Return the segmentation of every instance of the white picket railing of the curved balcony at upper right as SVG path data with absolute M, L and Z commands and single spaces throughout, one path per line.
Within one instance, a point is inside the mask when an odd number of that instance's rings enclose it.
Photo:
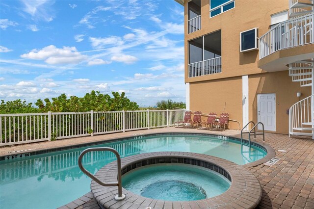
M 314 43 L 314 14 L 284 21 L 260 38 L 260 59 L 278 50 Z

